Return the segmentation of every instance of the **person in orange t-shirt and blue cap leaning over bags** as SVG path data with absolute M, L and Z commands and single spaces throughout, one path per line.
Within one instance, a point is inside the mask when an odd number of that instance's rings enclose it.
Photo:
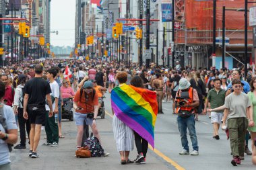
M 96 126 L 98 94 L 93 86 L 92 81 L 86 81 L 83 87 L 77 90 L 73 99 L 75 125 L 77 126 L 77 149 L 81 148 L 82 137 L 84 134 L 84 122 L 90 125 L 94 136 L 100 141 L 100 134 L 98 133 L 98 128 Z M 104 153 L 105 157 L 108 155 L 108 153 Z

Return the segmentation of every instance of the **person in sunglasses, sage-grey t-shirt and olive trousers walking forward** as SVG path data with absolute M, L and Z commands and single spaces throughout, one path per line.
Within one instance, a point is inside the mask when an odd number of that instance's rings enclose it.
M 237 166 L 241 164 L 241 157 L 245 152 L 245 135 L 248 127 L 247 116 L 249 117 L 249 127 L 254 126 L 252 104 L 249 97 L 241 92 L 241 81 L 232 80 L 232 92 L 225 99 L 225 110 L 222 127 L 226 126 L 228 120 L 228 131 L 230 136 L 230 147 L 233 155 L 231 164 Z

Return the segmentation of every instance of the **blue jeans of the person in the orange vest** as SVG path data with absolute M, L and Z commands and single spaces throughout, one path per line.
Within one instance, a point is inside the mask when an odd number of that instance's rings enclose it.
M 194 116 L 189 116 L 189 118 L 181 118 L 180 116 L 178 116 L 177 121 L 178 121 L 179 131 L 181 133 L 181 144 L 183 148 L 186 151 L 189 151 L 189 142 L 187 141 L 187 128 L 188 128 L 193 150 L 198 151 Z

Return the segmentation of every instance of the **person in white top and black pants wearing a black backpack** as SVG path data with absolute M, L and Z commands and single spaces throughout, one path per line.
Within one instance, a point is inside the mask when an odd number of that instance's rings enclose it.
M 26 76 L 19 75 L 17 88 L 15 89 L 14 101 L 13 101 L 13 112 L 15 115 L 18 114 L 18 122 L 20 128 L 20 144 L 16 145 L 15 149 L 26 148 L 26 131 L 30 136 L 30 122 L 23 117 L 23 103 L 24 103 L 24 85 L 26 83 Z M 25 129 L 26 126 L 26 129 Z

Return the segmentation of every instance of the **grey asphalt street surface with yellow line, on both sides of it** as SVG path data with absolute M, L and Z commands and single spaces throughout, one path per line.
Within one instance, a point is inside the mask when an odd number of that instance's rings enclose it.
M 163 103 L 164 114 L 158 115 L 155 128 L 154 151 L 149 149 L 146 165 L 121 165 L 119 153 L 117 152 L 112 128 L 112 114 L 110 112 L 110 94 L 106 93 L 104 99 L 106 106 L 106 118 L 98 117 L 97 124 L 102 138 L 104 150 L 110 153 L 109 157 L 78 159 L 75 158 L 75 136 L 76 128 L 74 122 L 63 120 L 63 135 L 58 147 L 38 146 L 39 159 L 28 157 L 26 150 L 14 150 L 11 153 L 11 167 L 13 170 L 65 170 L 65 169 L 253 169 L 251 156 L 245 155 L 238 167 L 233 167 L 230 163 L 230 144 L 226 140 L 226 134 L 220 130 L 220 140 L 212 138 L 212 124 L 208 116 L 199 116 L 196 122 L 197 139 L 199 142 L 199 156 L 179 155 L 181 148 L 181 138 L 177 128 L 176 118 L 172 115 L 171 103 Z M 45 132 L 42 131 L 40 144 L 45 141 Z M 191 140 L 189 139 L 191 146 Z M 251 149 L 251 140 L 249 141 Z M 28 145 L 27 145 L 28 147 Z M 137 156 L 134 149 L 130 159 Z

